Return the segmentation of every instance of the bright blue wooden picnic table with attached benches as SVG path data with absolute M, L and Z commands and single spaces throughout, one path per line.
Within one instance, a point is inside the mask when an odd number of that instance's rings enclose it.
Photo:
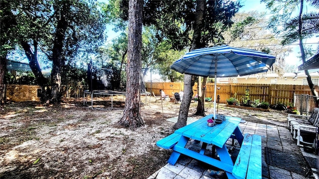
M 237 117 L 226 116 L 226 120 L 221 124 L 209 127 L 207 120 L 212 116 L 207 115 L 177 129 L 157 142 L 159 147 L 173 150 L 168 163 L 175 165 L 179 156 L 183 154 L 224 170 L 229 179 L 261 178 L 261 137 L 255 134 L 243 135 L 238 127 L 241 118 Z M 235 163 L 226 147 L 226 142 L 230 138 L 236 139 L 241 146 Z M 199 152 L 185 147 L 190 139 L 202 142 Z M 219 159 L 204 155 L 208 144 L 215 147 Z

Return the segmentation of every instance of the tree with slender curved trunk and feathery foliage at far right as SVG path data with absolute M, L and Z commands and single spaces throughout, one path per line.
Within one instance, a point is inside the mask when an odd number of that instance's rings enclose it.
M 318 0 L 306 1 L 315 7 L 319 6 Z M 282 44 L 291 44 L 298 41 L 301 59 L 305 63 L 307 52 L 304 47 L 304 40 L 319 32 L 319 12 L 305 13 L 306 4 L 304 0 L 262 0 L 262 2 L 266 2 L 267 8 L 273 12 L 270 27 L 283 35 Z M 295 10 L 298 12 L 297 15 L 293 14 Z M 282 27 L 282 29 L 279 29 L 279 27 Z M 308 70 L 305 70 L 305 74 L 312 94 L 318 96 Z M 318 106 L 318 97 L 315 98 L 315 101 Z

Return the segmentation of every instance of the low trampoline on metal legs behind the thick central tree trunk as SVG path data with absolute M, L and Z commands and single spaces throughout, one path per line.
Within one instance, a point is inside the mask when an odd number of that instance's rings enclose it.
M 86 97 L 87 95 L 91 94 L 91 109 L 93 109 L 93 96 L 94 95 L 110 95 L 111 96 L 111 109 L 113 109 L 113 95 L 126 95 L 126 92 L 122 91 L 114 91 L 114 90 L 84 90 L 83 92 L 83 105 L 86 104 Z M 147 102 L 146 96 L 150 95 L 151 92 L 144 92 L 141 95 L 145 95 L 145 103 Z

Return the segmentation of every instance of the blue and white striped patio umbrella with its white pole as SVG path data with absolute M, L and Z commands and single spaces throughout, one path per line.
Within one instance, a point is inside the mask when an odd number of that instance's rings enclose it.
M 182 74 L 215 78 L 214 117 L 216 117 L 217 77 L 238 77 L 267 72 L 275 60 L 275 56 L 264 52 L 222 45 L 190 51 L 174 62 L 170 68 Z

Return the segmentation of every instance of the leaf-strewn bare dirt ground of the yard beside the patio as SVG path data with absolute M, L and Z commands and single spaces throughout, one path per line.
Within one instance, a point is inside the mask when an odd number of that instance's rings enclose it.
M 147 179 L 167 163 L 171 154 L 156 146 L 173 133 L 180 104 L 149 102 L 142 107 L 145 126 L 134 131 L 117 125 L 123 115 L 123 97 L 95 102 L 94 109 L 83 99 L 65 99 L 60 105 L 20 102 L 0 109 L 0 179 Z M 145 99 L 142 98 L 145 102 Z M 206 114 L 213 102 L 206 102 Z M 191 103 L 189 117 L 197 103 Z M 162 108 L 163 107 L 163 108 Z M 162 113 L 163 111 L 163 113 Z M 287 114 L 271 110 L 226 107 L 218 113 L 246 121 L 287 126 Z

